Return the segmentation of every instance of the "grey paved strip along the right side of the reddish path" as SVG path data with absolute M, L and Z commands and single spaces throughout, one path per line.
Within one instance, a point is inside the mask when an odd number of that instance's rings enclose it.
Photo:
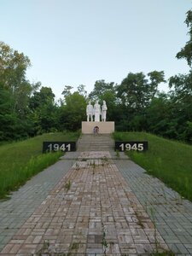
M 131 160 L 114 162 L 168 247 L 177 255 L 192 255 L 192 203 Z

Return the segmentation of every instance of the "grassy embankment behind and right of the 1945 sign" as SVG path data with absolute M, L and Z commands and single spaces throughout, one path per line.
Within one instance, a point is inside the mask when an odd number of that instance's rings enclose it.
M 148 141 L 145 153 L 126 152 L 149 174 L 192 201 L 192 146 L 145 132 L 114 132 L 116 141 Z

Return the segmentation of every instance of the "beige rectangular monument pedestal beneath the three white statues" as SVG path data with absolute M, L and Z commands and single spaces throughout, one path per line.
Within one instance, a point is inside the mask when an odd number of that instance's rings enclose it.
M 99 127 L 100 134 L 108 134 L 114 131 L 114 122 L 82 122 L 82 133 L 93 134 L 94 127 Z

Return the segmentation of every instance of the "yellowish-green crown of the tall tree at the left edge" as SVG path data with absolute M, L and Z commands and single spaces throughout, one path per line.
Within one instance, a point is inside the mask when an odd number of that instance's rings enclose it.
M 25 112 L 27 98 L 34 90 L 26 80 L 26 68 L 30 66 L 27 56 L 0 42 L 0 81 L 11 92 L 10 96 L 14 99 L 12 110 L 15 113 Z

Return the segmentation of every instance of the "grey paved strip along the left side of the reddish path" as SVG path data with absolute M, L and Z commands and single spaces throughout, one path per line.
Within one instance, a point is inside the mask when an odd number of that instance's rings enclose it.
M 73 158 L 77 158 L 78 155 L 65 154 L 63 160 L 58 161 L 54 168 L 49 166 L 44 172 L 39 172 L 18 191 L 13 192 L 11 199 L 0 201 L 0 251 L 73 166 Z

